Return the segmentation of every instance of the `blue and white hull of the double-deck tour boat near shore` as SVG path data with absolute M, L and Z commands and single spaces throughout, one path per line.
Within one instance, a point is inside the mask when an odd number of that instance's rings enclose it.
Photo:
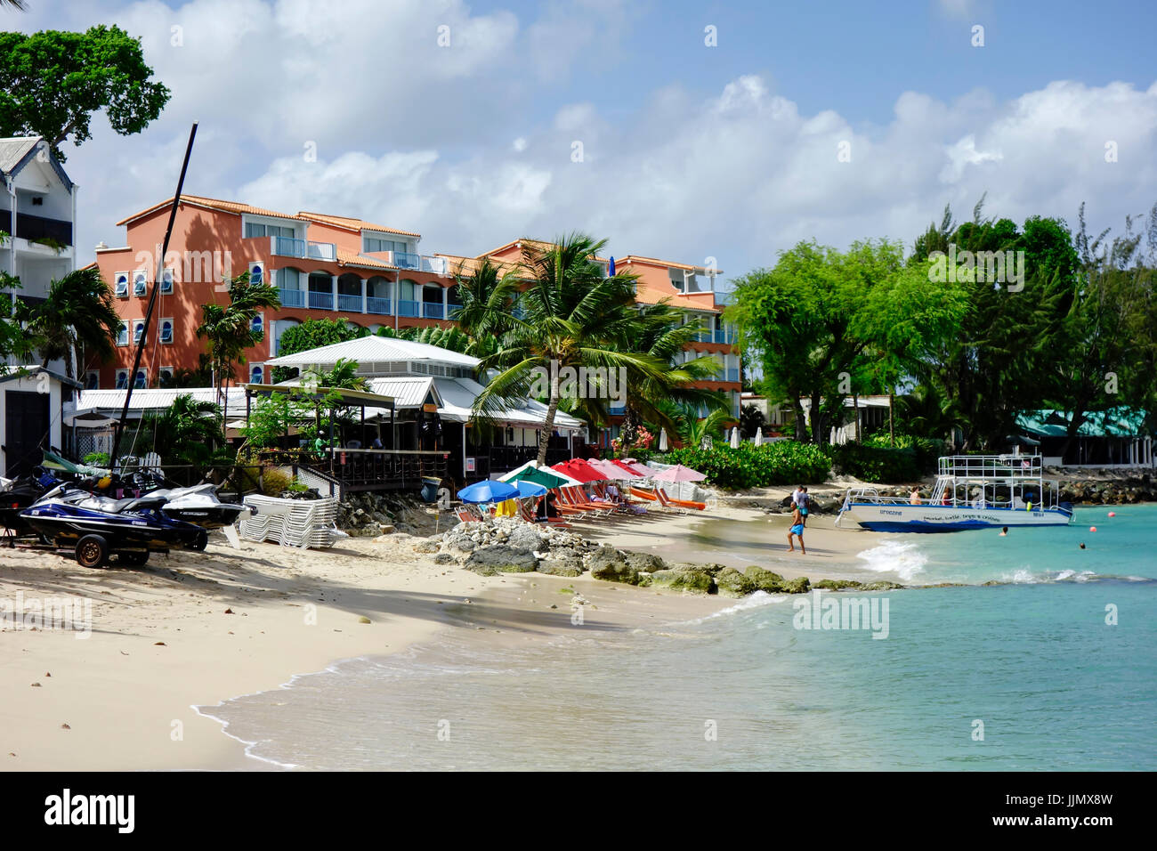
M 1014 526 L 1068 526 L 1064 508 L 973 508 L 950 505 L 876 505 L 852 502 L 840 513 L 871 531 L 966 531 Z

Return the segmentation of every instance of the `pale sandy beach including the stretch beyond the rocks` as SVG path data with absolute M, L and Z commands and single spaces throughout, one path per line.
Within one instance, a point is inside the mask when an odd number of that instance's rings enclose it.
M 864 536 L 815 518 L 809 556 L 784 553 L 786 516 L 723 504 L 705 513 L 578 524 L 575 531 L 675 560 L 759 563 L 784 575 L 861 575 Z M 780 527 L 783 527 L 782 529 Z M 736 551 L 739 528 L 754 536 Z M 722 529 L 724 545 L 705 530 Z M 766 537 L 766 542 L 765 542 Z M 537 640 L 570 628 L 573 588 L 587 629 L 625 630 L 730 604 L 539 573 L 480 577 L 413 551 L 423 538 L 348 538 L 330 550 L 214 535 L 206 553 L 90 571 L 44 552 L 0 550 L 0 601 L 23 610 L 88 601 L 91 632 L 0 631 L 0 769 L 259 769 L 221 725 L 193 710 L 274 689 L 337 660 L 389 654 L 439 630 L 477 640 Z M 34 602 L 35 601 L 35 602 Z M 3 604 L 3 603 L 0 603 Z M 366 622 L 368 621 L 368 623 Z

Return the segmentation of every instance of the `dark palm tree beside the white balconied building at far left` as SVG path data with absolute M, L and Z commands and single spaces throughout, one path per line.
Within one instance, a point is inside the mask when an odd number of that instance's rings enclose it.
M 69 379 L 74 355 L 78 372 L 84 367 L 86 353 L 100 360 L 111 358 L 120 330 L 112 291 L 96 266 L 78 269 L 52 281 L 47 298 L 37 305 L 21 302 L 17 316 L 40 351 L 42 366 L 61 358 Z

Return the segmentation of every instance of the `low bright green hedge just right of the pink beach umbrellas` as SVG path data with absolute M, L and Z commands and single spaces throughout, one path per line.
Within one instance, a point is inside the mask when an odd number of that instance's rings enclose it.
M 707 484 L 727 490 L 818 483 L 826 479 L 831 470 L 831 462 L 819 447 L 794 440 L 758 447 L 745 442 L 738 449 L 730 446 L 684 447 L 661 460 L 699 470 L 707 476 Z

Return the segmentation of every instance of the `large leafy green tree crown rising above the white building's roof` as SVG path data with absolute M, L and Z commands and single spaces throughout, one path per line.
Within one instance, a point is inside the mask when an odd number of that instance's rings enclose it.
M 121 135 L 139 133 L 169 101 L 152 76 L 140 39 L 119 27 L 0 32 L 0 135 L 42 135 L 64 160 L 65 139 L 91 138 L 94 112 Z

